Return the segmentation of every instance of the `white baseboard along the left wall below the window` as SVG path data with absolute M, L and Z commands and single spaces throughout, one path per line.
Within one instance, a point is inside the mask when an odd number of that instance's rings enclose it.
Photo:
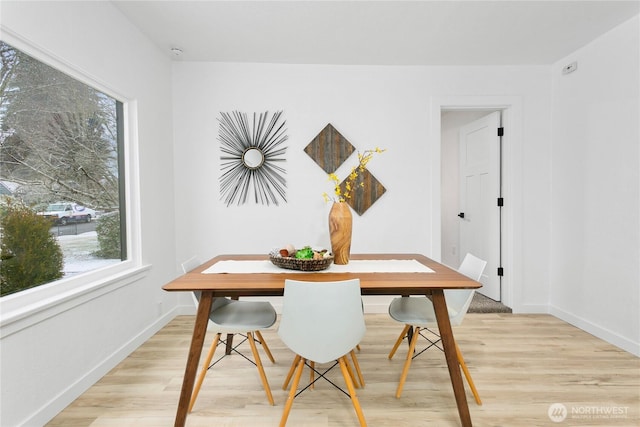
M 127 358 L 133 351 L 144 344 L 155 333 L 167 325 L 174 317 L 181 314 L 179 309 L 171 310 L 158 318 L 155 322 L 141 331 L 137 336 L 120 347 L 118 350 L 109 355 L 101 363 L 97 364 L 94 369 L 87 372 L 78 381 L 71 384 L 65 390 L 62 390 L 57 396 L 51 399 L 46 405 L 35 411 L 31 416 L 24 419 L 20 425 L 23 426 L 42 426 L 51 421 L 64 408 L 69 406 L 82 393 L 87 391 L 92 385 L 104 377 L 111 369 L 116 367 L 118 363 Z

